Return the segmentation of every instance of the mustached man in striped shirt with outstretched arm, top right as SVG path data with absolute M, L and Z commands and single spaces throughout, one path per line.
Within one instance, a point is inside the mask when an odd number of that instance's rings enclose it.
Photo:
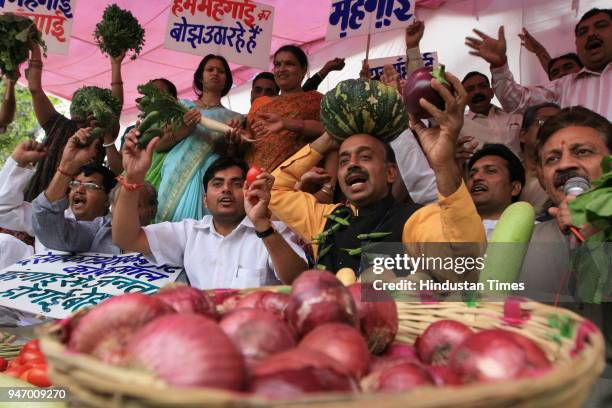
M 517 84 L 508 68 L 504 27 L 497 39 L 479 30 L 480 38 L 467 37 L 470 54 L 491 66 L 493 89 L 506 112 L 523 113 L 529 106 L 554 102 L 562 108 L 584 106 L 612 118 L 612 9 L 591 9 L 574 29 L 576 53 L 584 67 L 547 85 L 525 87 Z

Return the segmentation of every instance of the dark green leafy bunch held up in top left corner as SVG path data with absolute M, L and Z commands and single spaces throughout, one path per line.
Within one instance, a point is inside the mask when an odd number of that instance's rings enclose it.
M 28 59 L 30 41 L 47 51 L 47 45 L 32 20 L 12 13 L 0 15 L 0 71 L 4 75 L 17 79 L 19 65 Z

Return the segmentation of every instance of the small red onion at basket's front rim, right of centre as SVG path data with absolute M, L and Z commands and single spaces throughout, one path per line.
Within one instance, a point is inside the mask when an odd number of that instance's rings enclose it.
M 364 392 L 403 392 L 419 385 L 431 385 L 433 379 L 425 368 L 415 363 L 403 363 L 376 371 L 361 380 Z

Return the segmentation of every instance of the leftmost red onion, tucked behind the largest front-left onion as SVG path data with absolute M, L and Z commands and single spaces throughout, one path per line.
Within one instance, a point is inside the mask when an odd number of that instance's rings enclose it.
M 173 312 L 161 300 L 142 293 L 112 297 L 77 322 L 68 349 L 119 364 L 134 333 L 150 321 Z

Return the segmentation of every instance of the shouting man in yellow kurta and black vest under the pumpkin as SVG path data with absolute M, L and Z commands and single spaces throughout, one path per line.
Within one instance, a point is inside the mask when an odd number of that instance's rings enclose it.
M 371 243 L 373 238 L 369 237 L 376 232 L 383 237 L 376 242 L 410 244 L 412 252 L 418 251 L 419 256 L 421 251 L 425 255 L 429 253 L 431 248 L 423 244 L 427 242 L 445 243 L 453 251 L 454 246 L 448 243 L 485 240 L 480 217 L 455 162 L 456 140 L 467 94 L 457 78 L 450 74 L 447 77 L 455 87 L 455 96 L 439 82 L 432 81 L 434 89 L 445 100 L 444 112 L 421 100 L 421 106 L 432 114 L 439 126 L 427 129 L 420 121 L 414 118 L 411 121 L 436 177 L 437 204 L 420 208 L 393 198 L 391 186 L 398 177 L 393 150 L 369 134 L 356 132 L 339 148 L 338 183 L 348 205 L 320 204 L 311 194 L 293 189 L 305 171 L 337 148 L 327 133 L 275 170 L 276 182 L 270 202 L 272 212 L 306 240 L 315 240 L 317 235 L 327 231 L 324 244 L 316 248 L 320 267 L 334 272 L 350 267 L 359 275 L 362 272 L 360 248 L 362 244 Z M 337 223 L 335 220 L 339 218 L 344 222 Z M 441 281 L 465 279 L 454 272 L 426 273 Z

